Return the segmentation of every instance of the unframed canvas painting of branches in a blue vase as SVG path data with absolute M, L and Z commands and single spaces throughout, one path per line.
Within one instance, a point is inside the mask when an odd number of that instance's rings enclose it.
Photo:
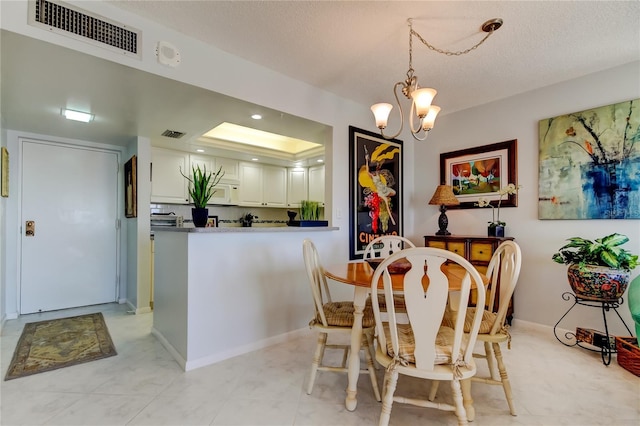
M 538 126 L 538 219 L 640 219 L 640 99 Z

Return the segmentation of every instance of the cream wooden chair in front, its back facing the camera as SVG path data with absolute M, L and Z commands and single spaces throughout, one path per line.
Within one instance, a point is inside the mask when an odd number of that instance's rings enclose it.
M 402 288 L 409 322 L 398 321 L 396 309 L 387 306 L 383 321 L 379 307 L 378 284 L 382 279 L 384 295 L 389 300 L 393 294 L 391 274 L 388 267 L 394 261 L 406 258 L 411 269 L 402 277 Z M 448 304 L 449 282 L 441 271 L 445 263 L 464 268 L 465 275 L 460 288 L 461 298 L 456 310 L 460 316 L 453 327 L 441 326 Z M 423 278 L 428 277 L 426 291 Z M 397 278 L 397 277 L 396 277 Z M 419 407 L 455 411 L 458 424 L 467 424 L 467 413 L 473 418 L 473 401 L 470 395 L 470 379 L 476 373 L 473 346 L 476 341 L 482 312 L 478 311 L 472 321 L 471 333 L 465 334 L 469 293 L 473 285 L 477 288 L 477 300 L 484 304 L 485 289 L 480 273 L 463 257 L 432 247 L 410 248 L 397 252 L 384 260 L 376 269 L 371 281 L 371 298 L 376 322 L 376 360 L 386 368 L 382 390 L 380 425 L 387 425 L 394 402 Z M 399 375 L 407 375 L 431 381 L 449 381 L 453 392 L 451 403 L 434 403 L 415 396 L 395 395 Z

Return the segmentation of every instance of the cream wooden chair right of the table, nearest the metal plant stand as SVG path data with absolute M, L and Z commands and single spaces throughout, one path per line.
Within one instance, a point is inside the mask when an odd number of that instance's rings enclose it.
M 513 241 L 505 241 L 496 249 L 491 257 L 486 275 L 490 279 L 489 297 L 486 299 L 480 331 L 478 332 L 478 341 L 484 342 L 484 353 L 474 353 L 476 358 L 484 358 L 489 367 L 489 375 L 486 377 L 474 377 L 474 382 L 481 382 L 491 385 L 501 385 L 509 404 L 509 411 L 512 416 L 516 415 L 513 403 L 513 395 L 511 392 L 511 383 L 507 375 L 507 369 L 502 359 L 501 343 L 507 343 L 507 348 L 511 348 L 511 335 L 509 334 L 508 325 L 506 324 L 507 309 L 509 301 L 513 295 L 513 291 L 518 283 L 520 275 L 520 267 L 522 264 L 522 253 L 520 246 Z M 498 285 L 499 284 L 499 285 Z M 495 306 L 495 298 L 499 287 L 499 305 Z M 478 304 L 477 306 L 482 306 Z M 469 308 L 466 314 L 465 333 L 471 330 L 472 319 L 475 317 L 477 308 Z M 451 326 L 454 318 L 445 314 L 443 325 Z M 498 375 L 496 375 L 495 365 L 498 365 Z M 430 399 L 433 401 L 437 384 L 432 387 Z

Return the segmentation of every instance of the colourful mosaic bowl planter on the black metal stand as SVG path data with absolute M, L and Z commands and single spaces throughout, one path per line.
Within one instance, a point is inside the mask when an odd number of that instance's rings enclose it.
M 567 278 L 575 295 L 581 299 L 616 301 L 629 285 L 630 272 L 607 266 L 569 265 Z

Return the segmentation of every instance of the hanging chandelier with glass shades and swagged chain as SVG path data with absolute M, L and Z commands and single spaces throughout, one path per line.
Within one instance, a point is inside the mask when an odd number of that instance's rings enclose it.
M 422 38 L 420 34 L 414 31 L 412 19 L 407 19 L 407 23 L 409 25 L 409 70 L 407 71 L 407 78 L 404 81 L 397 82 L 393 86 L 393 94 L 396 97 L 396 103 L 398 104 L 398 111 L 400 113 L 400 130 L 398 130 L 398 132 L 393 136 L 388 136 L 384 133 L 384 129 L 387 128 L 389 113 L 391 112 L 391 109 L 393 109 L 393 105 L 388 103 L 375 104 L 371 106 L 371 111 L 376 119 L 376 127 L 380 129 L 380 135 L 385 139 L 396 138 L 402 132 L 404 127 L 402 104 L 398 98 L 398 88 L 401 88 L 402 94 L 411 101 L 411 111 L 409 112 L 409 127 L 411 128 L 411 135 L 414 139 L 423 141 L 427 138 L 429 130 L 433 128 L 433 123 L 440 112 L 440 107 L 431 105 L 431 101 L 433 101 L 436 93 L 438 93 L 437 90 L 418 86 L 418 77 L 413 74 L 413 36 L 416 36 L 425 46 L 434 52 L 442 53 L 447 56 L 460 56 L 477 49 L 482 43 L 484 43 L 494 31 L 502 26 L 502 19 L 490 19 L 482 24 L 482 31 L 488 34 L 473 47 L 457 52 L 442 50 L 432 46 Z M 414 127 L 414 120 L 416 119 L 418 121 L 418 126 Z

